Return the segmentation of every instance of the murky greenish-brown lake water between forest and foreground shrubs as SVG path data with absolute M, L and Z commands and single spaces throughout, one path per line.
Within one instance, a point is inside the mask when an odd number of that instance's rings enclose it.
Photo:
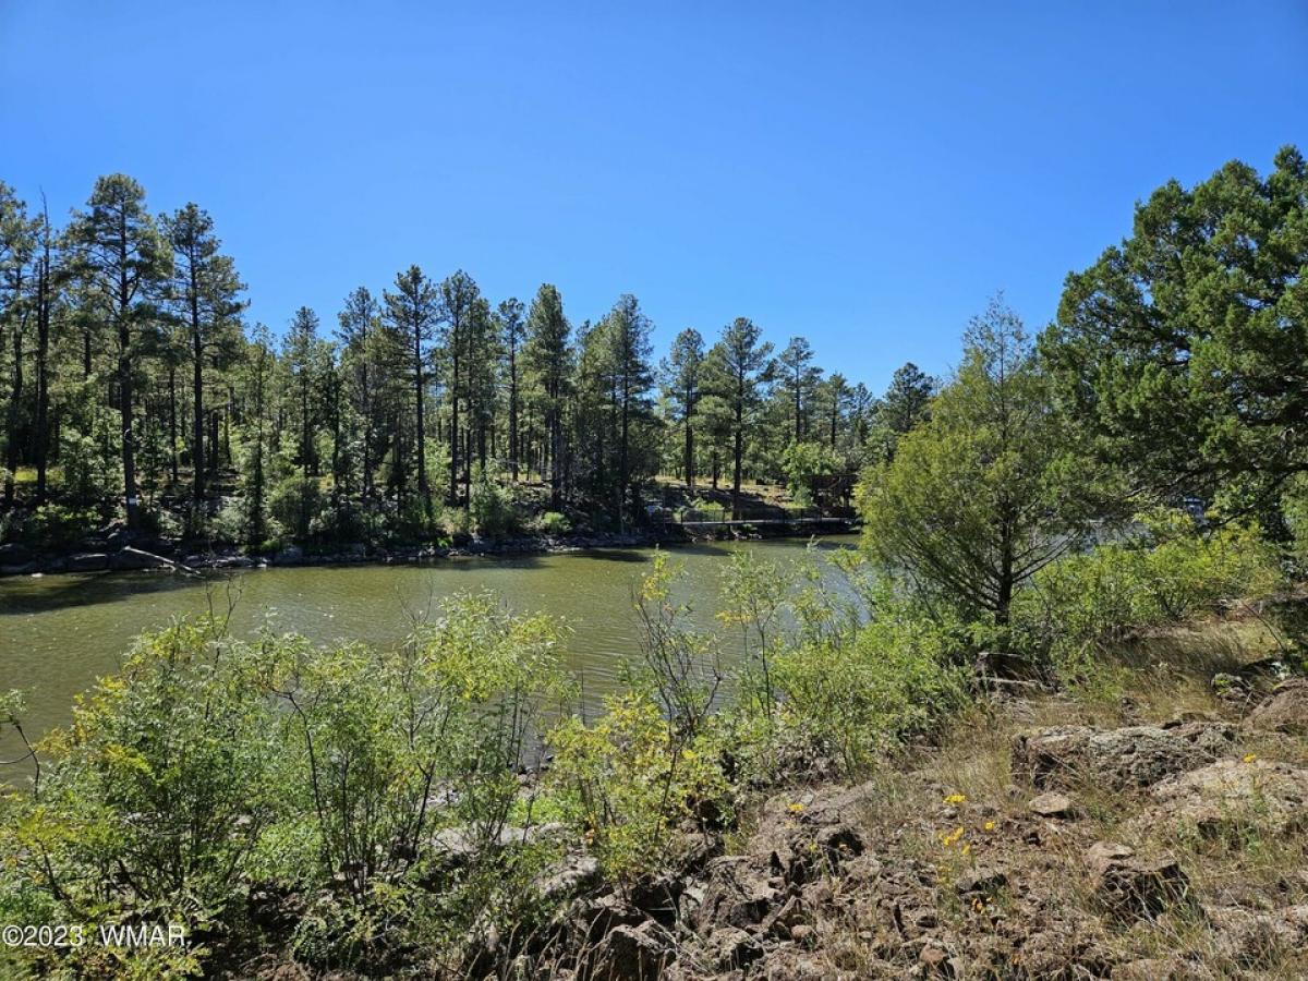
M 821 548 L 855 544 L 855 535 Z M 680 585 L 697 625 L 714 629 L 723 559 L 756 549 L 777 561 L 804 555 L 803 540 L 714 543 L 668 549 L 684 568 Z M 71 718 L 73 696 L 112 674 L 132 638 L 173 617 L 235 603 L 232 629 L 250 636 L 266 621 L 319 642 L 360 640 L 386 647 L 409 632 L 413 612 L 442 596 L 492 590 L 517 612 L 562 617 L 565 664 L 582 680 L 589 706 L 621 680 L 638 654 L 632 589 L 653 549 L 518 557 L 442 559 L 424 565 L 285 566 L 203 578 L 157 573 L 10 577 L 0 579 L 0 691 L 27 693 L 26 729 L 39 735 Z M 9 740 L 0 753 L 12 749 Z

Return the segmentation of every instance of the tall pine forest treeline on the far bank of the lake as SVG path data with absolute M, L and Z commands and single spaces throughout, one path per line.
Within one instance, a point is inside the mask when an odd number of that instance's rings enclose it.
M 463 271 L 411 266 L 280 337 L 246 307 L 200 207 L 154 215 L 112 174 L 58 228 L 0 184 L 4 509 L 46 509 L 35 538 L 119 517 L 259 545 L 493 534 L 526 484 L 552 527 L 629 525 L 658 473 L 683 502 L 766 480 L 848 504 L 937 387 L 905 365 L 875 398 L 746 318 L 657 357 L 634 296 L 574 324 L 551 284 L 494 302 Z

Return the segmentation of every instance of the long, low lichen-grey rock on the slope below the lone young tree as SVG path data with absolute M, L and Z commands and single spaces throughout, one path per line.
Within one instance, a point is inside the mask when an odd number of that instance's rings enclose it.
M 1039 787 L 1093 781 L 1112 790 L 1147 787 L 1163 777 L 1211 763 L 1226 752 L 1231 726 L 1188 722 L 1175 729 L 1056 726 L 1019 732 L 1012 765 Z

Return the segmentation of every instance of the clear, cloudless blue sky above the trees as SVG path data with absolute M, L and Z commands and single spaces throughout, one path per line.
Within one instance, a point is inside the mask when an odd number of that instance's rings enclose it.
M 0 179 L 213 215 L 281 330 L 419 263 L 882 388 L 1031 326 L 1133 203 L 1308 149 L 1308 3 L 0 0 Z

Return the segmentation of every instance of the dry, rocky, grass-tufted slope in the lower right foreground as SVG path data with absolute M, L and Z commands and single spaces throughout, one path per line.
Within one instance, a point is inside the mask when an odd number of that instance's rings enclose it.
M 602 887 L 573 853 L 548 944 L 466 971 L 1305 977 L 1308 679 L 1252 659 L 1240 629 L 1144 644 L 1129 696 L 985 696 L 942 744 L 858 786 L 797 782 L 640 887 Z

